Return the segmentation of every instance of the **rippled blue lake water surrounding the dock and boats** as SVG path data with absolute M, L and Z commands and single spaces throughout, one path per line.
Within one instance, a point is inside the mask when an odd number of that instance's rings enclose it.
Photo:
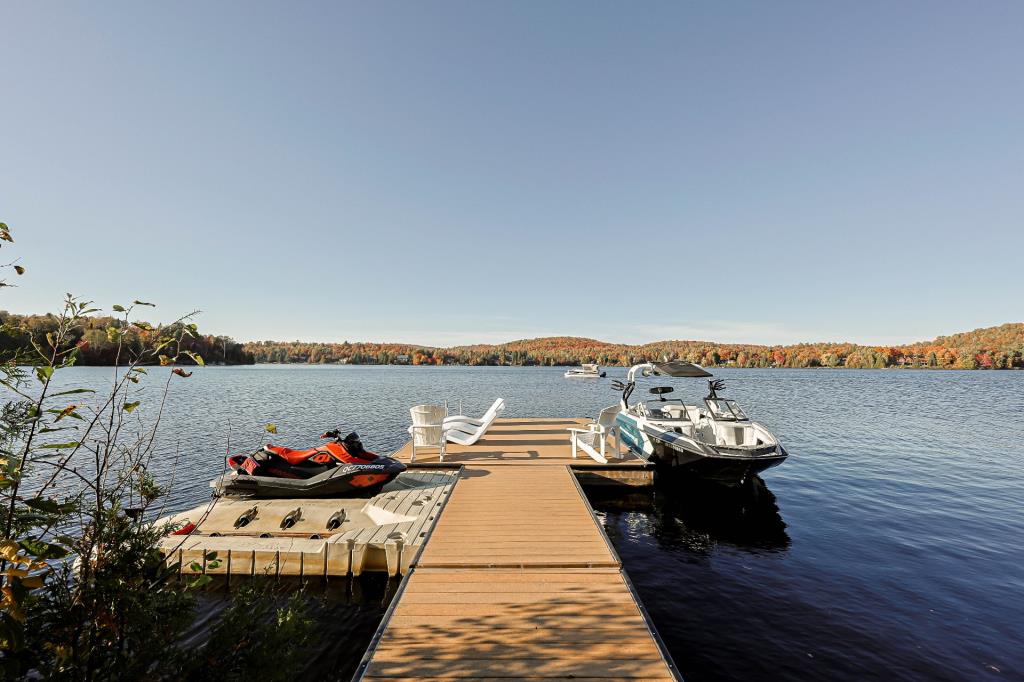
M 596 416 L 617 394 L 557 368 L 259 366 L 175 381 L 162 430 L 179 465 L 167 511 L 209 499 L 230 450 L 294 446 L 340 426 L 370 450 L 406 439 L 409 408 Z M 94 385 L 111 370 L 76 368 Z M 757 495 L 664 489 L 594 497 L 686 679 L 1024 679 L 1024 373 L 721 370 L 726 395 L 791 453 Z M 705 385 L 669 380 L 677 395 Z M 690 381 L 690 383 L 687 383 Z M 146 388 L 156 398 L 157 386 Z M 640 391 L 638 391 L 639 395 Z M 153 408 L 143 401 L 141 415 Z M 328 611 L 353 670 L 390 590 Z M 360 588 L 361 589 L 361 588 Z M 356 592 L 359 590 L 357 589 Z

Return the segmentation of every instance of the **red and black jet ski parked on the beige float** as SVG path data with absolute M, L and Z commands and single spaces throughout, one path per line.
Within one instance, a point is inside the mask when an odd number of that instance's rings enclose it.
M 268 444 L 252 455 L 231 455 L 231 472 L 211 485 L 217 495 L 256 498 L 370 497 L 406 470 L 398 460 L 367 451 L 354 432 L 321 437 L 331 441 L 308 450 Z

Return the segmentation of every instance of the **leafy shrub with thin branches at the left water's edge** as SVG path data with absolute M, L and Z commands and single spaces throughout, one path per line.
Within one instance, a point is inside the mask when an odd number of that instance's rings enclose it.
M 0 241 L 9 237 L 2 225 Z M 76 386 L 74 374 L 65 378 L 88 347 L 82 330 L 98 311 L 89 301 L 68 295 L 48 329 L 28 334 L 27 345 L 0 349 L 0 385 L 9 398 L 0 410 L 6 679 L 159 680 L 178 679 L 189 666 L 214 669 L 216 651 L 178 647 L 194 620 L 191 589 L 205 581 L 176 580 L 181 567 L 168 565 L 158 550 L 171 528 L 155 520 L 154 503 L 166 491 L 151 469 L 173 384 L 191 376 L 179 365 L 205 364 L 194 345 L 196 313 L 154 328 L 130 322 L 140 307 L 152 304 L 114 306 L 116 323 L 104 330 L 114 367 L 102 388 Z M 142 335 L 147 342 L 139 344 Z M 242 603 L 257 599 L 252 589 Z M 223 637 L 244 625 L 246 641 L 256 646 L 284 613 L 295 637 L 281 651 L 291 655 L 309 630 L 301 597 L 295 599 L 280 612 L 264 607 L 276 622 L 243 623 L 239 609 L 228 608 L 216 632 Z M 252 673 L 244 660 L 221 668 Z

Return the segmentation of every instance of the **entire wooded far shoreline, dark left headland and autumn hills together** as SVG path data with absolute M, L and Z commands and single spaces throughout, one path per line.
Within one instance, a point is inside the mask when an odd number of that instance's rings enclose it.
M 186 323 L 176 323 L 186 325 Z M 33 339 L 45 340 L 57 326 L 54 315 L 18 315 L 0 311 L 0 351 L 24 350 L 29 356 Z M 169 326 L 173 327 L 173 326 Z M 175 331 L 145 322 L 126 323 L 110 316 L 83 318 L 76 328 L 79 365 L 113 365 L 117 360 L 117 331 L 125 329 L 121 352 L 152 348 L 162 334 Z M 257 341 L 240 343 L 230 337 L 199 333 L 176 335 L 182 347 L 206 364 L 251 365 L 296 363 L 309 365 L 473 365 L 574 366 L 597 363 L 629 367 L 643 360 L 684 359 L 706 367 L 788 368 L 931 368 L 1005 370 L 1024 368 L 1024 323 L 941 336 L 901 346 L 863 346 L 853 343 L 798 343 L 756 345 L 709 341 L 657 341 L 643 345 L 606 343 L 579 337 L 548 337 L 436 348 L 396 343 L 314 343 Z M 190 355 L 181 355 L 189 363 Z M 125 361 L 122 357 L 121 361 Z

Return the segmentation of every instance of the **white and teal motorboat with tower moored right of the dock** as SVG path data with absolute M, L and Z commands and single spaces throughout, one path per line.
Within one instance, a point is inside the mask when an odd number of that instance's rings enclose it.
M 708 382 L 702 404 L 667 398 L 673 387 L 654 386 L 649 391 L 655 398 L 631 406 L 637 378 L 648 376 L 710 378 L 712 374 L 690 363 L 644 363 L 630 369 L 625 383 L 612 382 L 623 391 L 615 418 L 620 436 L 636 455 L 665 469 L 729 485 L 745 483 L 788 456 L 767 427 L 751 421 L 735 400 L 718 395 L 725 388 L 721 379 Z

